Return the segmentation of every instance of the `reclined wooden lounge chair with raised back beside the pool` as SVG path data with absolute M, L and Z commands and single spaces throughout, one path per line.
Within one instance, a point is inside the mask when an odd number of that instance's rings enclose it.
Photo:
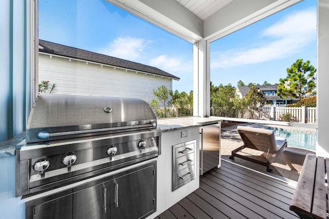
M 234 160 L 234 157 L 239 157 L 263 165 L 266 167 L 266 171 L 273 172 L 273 170 L 270 169 L 270 164 L 276 161 L 280 153 L 283 151 L 283 148 L 287 146 L 286 139 L 283 137 L 275 137 L 273 131 L 268 129 L 237 126 L 237 131 L 239 132 L 244 145 L 233 150 L 230 159 Z M 264 153 L 262 153 L 262 155 L 266 160 L 261 161 L 252 158 L 250 155 L 246 156 L 237 153 L 244 148 L 263 151 Z

